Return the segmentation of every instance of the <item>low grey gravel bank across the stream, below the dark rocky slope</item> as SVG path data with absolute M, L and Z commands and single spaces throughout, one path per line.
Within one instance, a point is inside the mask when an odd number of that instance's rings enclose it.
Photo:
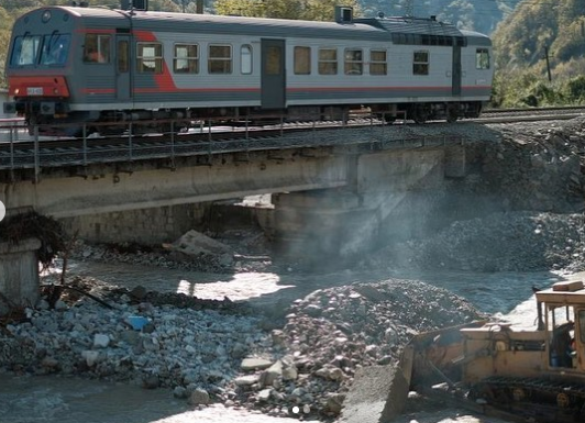
M 362 266 L 473 271 L 585 270 L 582 214 L 500 212 L 389 246 Z

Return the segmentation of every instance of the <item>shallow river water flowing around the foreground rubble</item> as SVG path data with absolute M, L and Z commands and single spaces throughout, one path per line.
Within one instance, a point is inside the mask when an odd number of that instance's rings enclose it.
M 115 285 L 150 290 L 185 292 L 200 298 L 246 301 L 265 308 L 276 301 L 292 301 L 325 287 L 388 278 L 423 280 L 449 289 L 488 313 L 530 326 L 534 322 L 532 286 L 548 287 L 555 281 L 578 278 L 541 274 L 412 274 L 377 270 L 343 271 L 327 275 L 299 275 L 295 269 L 282 274 L 250 272 L 210 275 L 183 270 L 120 264 L 74 263 L 70 275 L 92 276 Z M 291 415 L 291 418 L 295 418 Z M 298 418 L 297 418 L 298 419 Z M 167 390 L 147 391 L 139 387 L 59 377 L 13 377 L 0 374 L 0 423 L 286 423 L 291 419 L 271 418 L 245 410 L 213 405 L 194 410 L 173 398 Z M 497 423 L 459 410 L 418 412 L 398 423 Z M 368 422 L 364 422 L 368 423 Z

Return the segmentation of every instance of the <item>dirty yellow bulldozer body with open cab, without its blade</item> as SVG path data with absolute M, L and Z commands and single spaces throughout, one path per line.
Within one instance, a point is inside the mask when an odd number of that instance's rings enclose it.
M 534 329 L 474 322 L 416 336 L 400 367 L 410 390 L 486 414 L 529 422 L 585 422 L 585 289 L 536 292 Z

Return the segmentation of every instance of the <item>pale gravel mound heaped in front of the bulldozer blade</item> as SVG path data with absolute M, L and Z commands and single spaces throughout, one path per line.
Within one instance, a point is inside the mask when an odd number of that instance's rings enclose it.
M 357 368 L 395 365 L 417 333 L 485 318 L 470 303 L 432 286 L 404 280 L 320 289 L 289 310 L 272 332 L 282 358 L 235 379 L 245 402 L 279 415 L 297 405 L 320 415 L 341 411 Z M 244 381 L 246 382 L 244 385 Z

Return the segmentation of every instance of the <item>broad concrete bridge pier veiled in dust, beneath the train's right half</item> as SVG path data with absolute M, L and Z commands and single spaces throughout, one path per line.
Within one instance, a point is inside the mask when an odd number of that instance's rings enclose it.
M 464 160 L 462 148 L 360 154 L 349 160 L 346 187 L 273 194 L 278 251 L 325 265 L 363 258 L 383 238 L 408 238 L 424 230 L 445 177 L 464 175 Z

